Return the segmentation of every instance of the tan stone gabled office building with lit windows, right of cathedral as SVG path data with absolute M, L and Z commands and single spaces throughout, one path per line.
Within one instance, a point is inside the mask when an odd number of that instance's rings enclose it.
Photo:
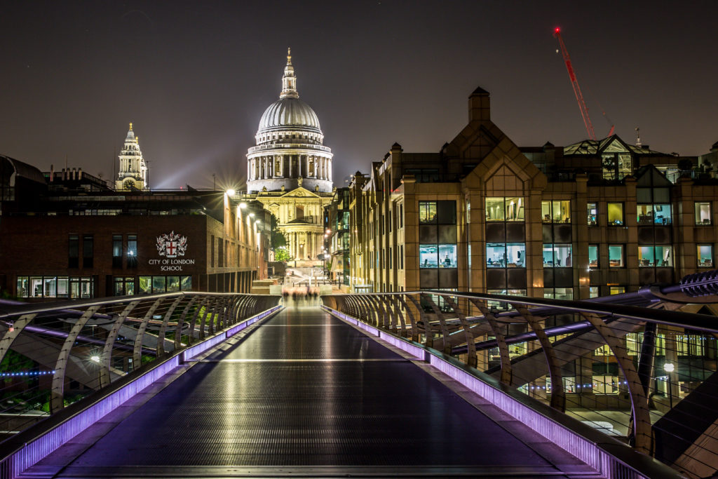
M 393 144 L 355 175 L 353 290 L 579 299 L 711 269 L 718 181 L 698 160 L 615 135 L 518 147 L 477 88 L 469 123 L 438 152 Z

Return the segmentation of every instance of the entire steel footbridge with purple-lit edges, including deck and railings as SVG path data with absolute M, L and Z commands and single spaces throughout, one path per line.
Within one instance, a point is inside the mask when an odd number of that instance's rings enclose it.
M 709 478 L 718 271 L 0 305 L 0 478 Z

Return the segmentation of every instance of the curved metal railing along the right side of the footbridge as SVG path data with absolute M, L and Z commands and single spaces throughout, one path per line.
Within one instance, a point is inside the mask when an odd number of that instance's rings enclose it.
M 621 295 L 625 304 L 445 291 L 322 301 L 704 478 L 718 470 L 718 317 L 710 309 L 718 297 L 710 280 L 718 274 Z

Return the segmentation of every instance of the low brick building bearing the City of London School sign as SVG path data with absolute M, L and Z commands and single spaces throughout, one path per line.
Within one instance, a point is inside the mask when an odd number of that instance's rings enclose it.
M 249 292 L 269 213 L 224 192 L 111 190 L 81 170 L 0 157 L 0 289 L 33 300 Z

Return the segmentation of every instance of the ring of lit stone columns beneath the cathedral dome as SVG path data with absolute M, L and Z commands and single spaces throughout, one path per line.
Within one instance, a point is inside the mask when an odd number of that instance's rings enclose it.
M 276 154 L 253 157 L 248 161 L 249 180 L 297 177 L 332 180 L 332 160 L 327 157 L 309 154 Z M 285 168 L 288 171 L 284 172 Z

